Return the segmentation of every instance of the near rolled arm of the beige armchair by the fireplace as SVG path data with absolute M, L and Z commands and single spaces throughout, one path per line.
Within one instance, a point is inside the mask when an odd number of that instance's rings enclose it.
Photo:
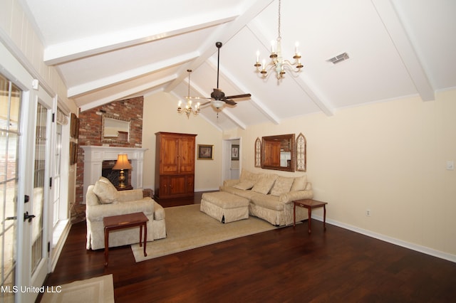
M 141 193 L 142 195 L 142 193 Z M 101 221 L 105 217 L 125 215 L 127 213 L 142 212 L 146 216 L 154 212 L 154 201 L 150 197 L 138 201 L 115 202 L 111 204 L 99 204 L 87 208 L 87 220 Z

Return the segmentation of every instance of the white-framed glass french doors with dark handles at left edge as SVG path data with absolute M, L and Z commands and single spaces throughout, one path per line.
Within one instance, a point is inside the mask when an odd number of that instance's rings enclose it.
M 34 302 L 49 263 L 53 99 L 1 44 L 0 58 L 0 302 Z

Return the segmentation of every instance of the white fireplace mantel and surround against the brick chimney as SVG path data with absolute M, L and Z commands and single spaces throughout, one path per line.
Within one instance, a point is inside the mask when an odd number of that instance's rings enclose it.
M 82 145 L 84 150 L 84 193 L 83 203 L 86 203 L 87 188 L 95 184 L 101 176 L 103 161 L 116 160 L 118 154 L 127 154 L 133 169 L 131 173 L 131 185 L 133 188 L 142 188 L 142 165 L 144 153 L 147 149 L 132 147 L 103 147 Z

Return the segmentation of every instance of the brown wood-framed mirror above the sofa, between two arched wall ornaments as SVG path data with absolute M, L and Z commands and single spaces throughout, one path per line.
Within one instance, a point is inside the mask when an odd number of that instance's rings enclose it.
M 262 138 L 261 168 L 278 171 L 294 171 L 294 134 L 281 134 Z

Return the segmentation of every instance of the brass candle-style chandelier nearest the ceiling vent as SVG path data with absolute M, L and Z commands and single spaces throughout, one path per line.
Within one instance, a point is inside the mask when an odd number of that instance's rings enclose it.
M 257 72 L 259 72 L 263 78 L 266 78 L 269 71 L 275 70 L 277 80 L 280 80 L 285 75 L 285 68 L 294 73 L 299 73 L 301 71 L 301 68 L 303 68 L 303 65 L 301 64 L 301 54 L 298 52 L 298 42 L 296 42 L 294 48 L 294 62 L 291 63 L 289 60 L 284 60 L 284 58 L 282 58 L 280 36 L 280 8 L 281 0 L 279 0 L 279 36 L 277 36 L 276 46 L 274 46 L 274 41 L 271 41 L 271 54 L 269 55 L 271 61 L 267 63 L 267 65 L 265 59 L 263 59 L 262 64 L 259 63 L 259 50 L 257 50 L 257 63 L 254 64 L 254 66 L 257 68 Z M 294 70 L 294 68 L 296 68 L 296 70 Z

